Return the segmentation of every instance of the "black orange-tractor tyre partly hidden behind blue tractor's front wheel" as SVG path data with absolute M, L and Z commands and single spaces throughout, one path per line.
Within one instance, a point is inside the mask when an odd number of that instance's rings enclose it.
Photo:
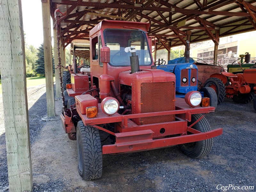
M 226 89 L 225 85 L 220 79 L 216 77 L 211 77 L 205 81 L 204 87 L 212 87 L 212 89 L 216 92 L 218 98 L 218 105 L 224 101 L 226 96 Z

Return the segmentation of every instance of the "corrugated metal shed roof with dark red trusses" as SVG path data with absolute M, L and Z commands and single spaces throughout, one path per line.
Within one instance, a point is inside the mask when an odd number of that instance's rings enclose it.
M 195 43 L 214 41 L 218 30 L 220 37 L 256 30 L 255 0 L 51 0 L 50 6 L 52 14 L 57 7 L 66 15 L 60 24 L 64 44 L 88 40 L 101 20 L 150 22 L 149 36 L 173 46 L 183 44 L 186 31 Z

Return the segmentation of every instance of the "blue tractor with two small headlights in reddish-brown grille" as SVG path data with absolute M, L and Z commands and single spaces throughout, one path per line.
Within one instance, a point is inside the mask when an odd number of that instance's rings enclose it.
M 217 107 L 217 94 L 211 87 L 204 87 L 198 90 L 197 87 L 197 66 L 193 63 L 174 63 L 161 65 L 165 62 L 156 62 L 157 69 L 174 73 L 176 76 L 176 97 L 184 98 L 187 92 L 199 91 L 202 97 L 210 98 L 210 106 Z

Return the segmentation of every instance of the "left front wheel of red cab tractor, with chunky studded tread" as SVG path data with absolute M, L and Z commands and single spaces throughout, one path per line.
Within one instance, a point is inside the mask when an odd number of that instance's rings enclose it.
M 78 173 L 84 180 L 98 179 L 102 175 L 102 148 L 97 128 L 79 121 L 76 127 Z

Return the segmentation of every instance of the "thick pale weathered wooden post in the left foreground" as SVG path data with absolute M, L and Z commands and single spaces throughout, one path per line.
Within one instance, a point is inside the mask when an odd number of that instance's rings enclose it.
M 0 69 L 9 190 L 32 191 L 21 0 L 2 0 L 0 4 Z

